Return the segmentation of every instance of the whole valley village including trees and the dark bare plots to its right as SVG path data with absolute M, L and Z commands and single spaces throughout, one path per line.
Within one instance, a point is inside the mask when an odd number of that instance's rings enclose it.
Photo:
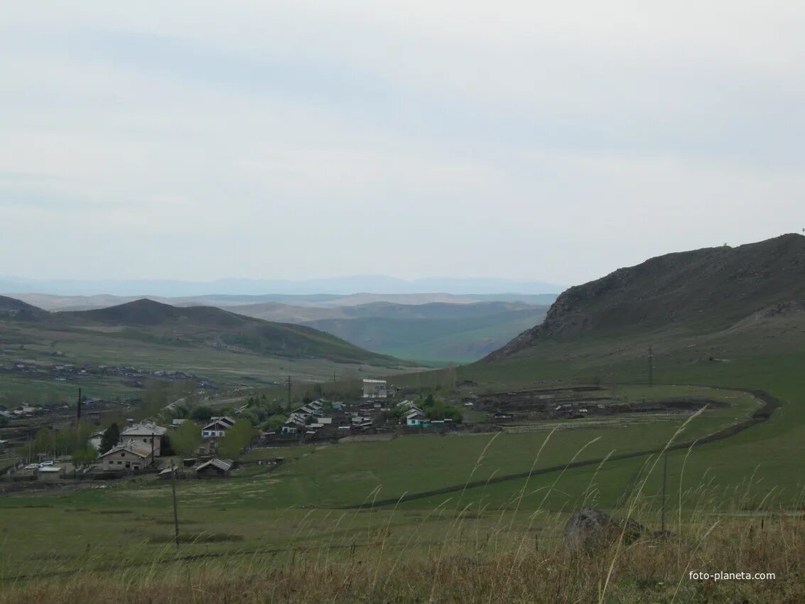
M 25 420 L 47 413 L 57 413 L 63 421 L 61 427 L 52 424 L 52 428 L 39 428 L 35 434 L 29 430 L 22 446 L 20 441 L 0 440 L 0 453 L 7 449 L 0 465 L 0 474 L 5 475 L 0 479 L 67 484 L 142 474 L 227 478 L 249 471 L 254 461 L 247 459 L 246 453 L 255 449 L 387 441 L 405 435 L 522 432 L 544 429 L 535 424 L 544 420 L 694 412 L 704 404 L 702 400 L 656 403 L 645 399 L 624 403 L 601 387 L 590 386 L 461 395 L 452 397 L 450 403 L 432 393 L 394 387 L 382 379 L 363 379 L 360 394 L 353 399 L 305 399 L 298 407 L 272 407 L 270 412 L 254 395 L 245 402 L 239 400 L 242 404 L 237 406 L 218 407 L 221 411 L 217 415 L 213 407 L 204 405 L 188 409 L 180 399 L 150 418 L 127 417 L 122 425 L 111 424 L 93 432 L 81 432 L 76 426 L 83 417 L 91 422 L 89 425 L 100 428 L 98 407 L 105 403 L 97 399 L 81 398 L 75 420 L 68 420 L 66 425 L 64 414 L 72 413 L 67 405 L 49 408 L 23 403 L 13 410 L 0 408 L 0 420 L 6 425 L 16 422 L 24 426 Z M 123 410 L 134 411 L 134 407 Z M 81 425 L 86 428 L 88 424 Z M 48 438 L 51 445 L 47 445 Z M 56 445 L 59 439 L 62 445 Z M 261 471 L 270 471 L 283 462 L 281 456 L 272 458 L 270 454 L 261 454 L 260 460 Z

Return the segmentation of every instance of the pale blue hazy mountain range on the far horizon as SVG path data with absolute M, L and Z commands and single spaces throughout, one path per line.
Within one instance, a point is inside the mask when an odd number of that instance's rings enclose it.
M 396 279 L 384 275 L 357 275 L 331 279 L 299 281 L 281 279 L 218 279 L 216 281 L 181 280 L 78 280 L 24 279 L 0 276 L 0 293 L 43 293 L 56 296 L 263 296 L 325 294 L 346 296 L 355 292 L 380 294 L 551 294 L 562 288 L 553 283 L 514 279 Z M 282 300 L 275 300 L 282 301 Z

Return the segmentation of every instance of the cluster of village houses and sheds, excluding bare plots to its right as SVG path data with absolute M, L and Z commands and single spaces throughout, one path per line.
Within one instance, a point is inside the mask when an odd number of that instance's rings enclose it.
M 227 449 L 229 457 L 221 455 L 223 444 L 234 441 L 232 435 L 238 425 L 245 425 L 243 419 L 249 408 L 248 404 L 232 410 L 229 415 L 209 416 L 199 422 L 198 418 L 173 418 L 166 425 L 160 425 L 155 418 L 137 422 L 133 418 L 126 420 L 126 425 L 114 430 L 106 428 L 92 432 L 87 438 L 90 454 L 83 456 L 62 454 L 48 456 L 47 453 L 31 452 L 31 440 L 27 456 L 14 457 L 6 464 L 5 476 L 10 482 L 72 482 L 87 480 L 114 480 L 140 474 L 157 474 L 159 478 L 213 478 L 227 477 L 242 465 L 238 461 L 241 453 L 250 449 L 303 445 L 310 442 L 337 443 L 345 439 L 361 437 L 386 439 L 399 432 L 444 432 L 460 424 L 460 416 L 444 416 L 444 410 L 427 412 L 411 399 L 393 400 L 398 392 L 388 387 L 385 380 L 364 379 L 360 399 L 352 401 L 330 401 L 324 399 L 311 400 L 287 412 L 287 416 L 275 414 L 282 424 L 273 430 L 246 428 L 242 440 L 238 441 L 235 454 L 232 447 Z M 428 399 L 426 399 L 428 400 Z M 432 397 L 431 405 L 435 404 Z M 100 404 L 97 399 L 82 398 L 78 405 L 77 416 L 95 420 L 99 423 L 97 412 L 93 406 Z M 7 410 L 0 408 L 0 415 L 6 420 L 25 420 L 41 417 L 44 414 L 59 411 L 69 412 L 72 407 L 60 405 L 50 408 L 42 405 L 31 406 L 27 403 L 18 408 Z M 175 412 L 176 405 L 171 403 L 166 410 Z M 46 428 L 47 429 L 47 428 Z M 52 432 L 70 432 L 76 428 L 63 427 Z M 184 434 L 197 432 L 198 442 L 192 451 L 181 456 L 171 443 L 177 440 L 178 432 Z M 31 435 L 29 435 L 31 436 Z M 114 438 L 113 438 L 114 436 Z M 109 441 L 113 438 L 113 441 Z M 0 441 L 0 452 L 11 447 L 10 441 Z M 81 446 L 81 445 L 79 445 Z M 23 451 L 25 450 L 23 446 Z M 49 458 L 53 457 L 53 458 Z M 279 464 L 281 458 L 274 461 L 261 461 L 261 465 Z

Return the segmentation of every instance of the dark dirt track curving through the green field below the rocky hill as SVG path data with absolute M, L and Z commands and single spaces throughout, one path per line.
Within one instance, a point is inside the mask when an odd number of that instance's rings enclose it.
M 690 384 L 691 386 L 694 384 Z M 736 434 L 740 434 L 744 432 L 746 429 L 751 428 L 752 426 L 762 424 L 766 420 L 768 420 L 774 410 L 778 407 L 782 406 L 782 402 L 779 399 L 774 398 L 774 396 L 768 394 L 762 390 L 751 390 L 748 388 L 714 388 L 715 390 L 721 391 L 733 391 L 733 392 L 747 392 L 750 395 L 753 395 L 756 399 L 760 400 L 763 403 L 763 406 L 758 409 L 756 412 L 749 417 L 748 420 L 741 421 L 737 424 L 733 424 L 723 430 L 719 430 L 718 432 L 713 432 L 708 436 L 704 436 L 696 441 L 687 441 L 683 443 L 677 443 L 676 445 L 671 445 L 667 448 L 668 451 L 678 451 L 679 449 L 689 449 L 691 446 L 699 446 L 699 445 L 707 445 L 708 443 L 716 442 L 716 441 L 724 441 L 731 436 L 735 436 Z M 634 453 L 622 453 L 621 455 L 613 455 L 609 457 L 608 461 L 619 461 L 623 459 L 634 459 L 634 457 L 645 457 L 646 455 L 654 455 L 655 453 L 662 453 L 663 447 L 658 447 L 655 449 L 645 449 L 642 451 L 635 451 Z M 383 499 L 382 501 L 376 501 L 372 503 L 361 503 L 359 505 L 353 506 L 345 506 L 339 509 L 342 510 L 355 510 L 361 509 L 365 507 L 384 507 L 384 506 L 393 506 L 397 503 L 405 503 L 408 501 L 415 501 L 417 499 L 427 499 L 428 497 L 434 497 L 436 495 L 444 495 L 448 493 L 457 493 L 467 489 L 473 489 L 479 486 L 485 485 L 492 485 L 497 484 L 499 482 L 509 482 L 511 480 L 520 480 L 522 478 L 528 478 L 529 476 L 538 476 L 539 474 L 551 474 L 553 472 L 561 472 L 562 470 L 571 470 L 573 468 L 583 468 L 588 465 L 598 465 L 604 458 L 597 458 L 597 459 L 588 459 L 585 461 L 574 461 L 573 463 L 566 464 L 566 465 L 552 465 L 549 468 L 541 468 L 539 470 L 534 470 L 533 472 L 518 472 L 517 474 L 506 474 L 505 476 L 497 476 L 494 478 L 489 478 L 488 480 L 477 480 L 473 482 L 464 482 L 464 484 L 460 485 L 453 485 L 453 486 L 444 486 L 441 489 L 434 489 L 434 490 L 424 490 L 419 493 L 411 493 L 403 495 L 397 499 Z

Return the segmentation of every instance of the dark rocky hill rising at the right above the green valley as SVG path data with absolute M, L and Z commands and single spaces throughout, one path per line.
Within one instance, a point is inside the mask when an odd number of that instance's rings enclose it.
M 757 330 L 799 317 L 805 237 L 666 254 L 563 292 L 545 320 L 485 358 L 527 354 L 545 342 Z M 799 314 L 798 314 L 799 313 Z

